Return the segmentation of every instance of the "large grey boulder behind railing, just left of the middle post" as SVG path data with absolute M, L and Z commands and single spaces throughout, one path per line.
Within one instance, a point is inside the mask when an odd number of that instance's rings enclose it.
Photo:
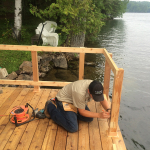
M 55 56 L 53 59 L 55 67 L 67 69 L 67 60 L 64 55 Z

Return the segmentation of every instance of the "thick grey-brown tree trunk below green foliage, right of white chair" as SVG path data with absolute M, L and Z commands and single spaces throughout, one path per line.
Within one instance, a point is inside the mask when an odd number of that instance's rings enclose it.
M 70 46 L 71 47 L 84 47 L 84 41 L 85 41 L 85 33 L 81 32 L 77 35 L 71 36 L 70 39 Z

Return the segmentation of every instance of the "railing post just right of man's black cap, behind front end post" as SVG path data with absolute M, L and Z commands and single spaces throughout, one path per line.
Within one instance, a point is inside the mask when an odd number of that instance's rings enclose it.
M 112 54 L 109 54 L 112 58 Z M 104 74 L 104 94 L 106 94 L 106 98 L 109 98 L 109 83 L 110 83 L 110 73 L 111 67 L 109 66 L 107 59 L 105 58 L 105 74 Z

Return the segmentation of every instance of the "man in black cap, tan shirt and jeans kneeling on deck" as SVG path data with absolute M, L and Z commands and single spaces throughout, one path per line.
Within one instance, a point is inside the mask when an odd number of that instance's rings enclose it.
M 87 103 L 100 102 L 106 112 L 91 112 Z M 109 110 L 109 111 L 108 111 Z M 55 99 L 45 104 L 45 115 L 69 132 L 78 130 L 77 120 L 93 121 L 93 118 L 110 118 L 110 106 L 103 96 L 103 86 L 96 80 L 78 80 L 64 86 Z

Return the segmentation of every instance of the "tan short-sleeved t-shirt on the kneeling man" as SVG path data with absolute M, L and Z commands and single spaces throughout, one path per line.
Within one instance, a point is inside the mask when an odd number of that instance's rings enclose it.
M 85 109 L 87 102 L 92 98 L 88 88 L 92 80 L 78 80 L 64 86 L 56 95 L 59 101 L 68 102 L 75 107 Z

